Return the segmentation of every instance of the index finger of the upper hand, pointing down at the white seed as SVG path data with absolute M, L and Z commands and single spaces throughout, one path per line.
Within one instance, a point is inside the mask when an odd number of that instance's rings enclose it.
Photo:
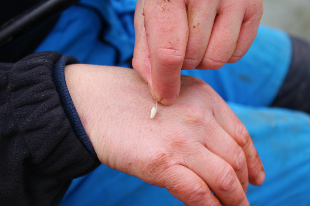
M 188 40 L 186 5 L 183 1 L 145 1 L 144 26 L 150 52 L 156 99 L 172 104 L 180 91 L 180 72 Z

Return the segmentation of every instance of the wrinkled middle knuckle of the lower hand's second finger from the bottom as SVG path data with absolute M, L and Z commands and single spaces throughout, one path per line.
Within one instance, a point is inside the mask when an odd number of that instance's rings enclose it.
M 226 170 L 224 173 L 224 175 L 221 175 L 218 178 L 219 181 L 219 190 L 222 192 L 232 192 L 237 188 L 237 182 L 236 182 L 236 178 L 235 178 L 235 171 L 232 169 L 232 167 L 226 167 Z

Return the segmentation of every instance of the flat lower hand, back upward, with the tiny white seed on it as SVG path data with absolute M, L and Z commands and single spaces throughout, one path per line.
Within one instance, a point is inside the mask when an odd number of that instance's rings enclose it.
M 202 80 L 182 76 L 179 99 L 158 104 L 150 119 L 155 102 L 133 69 L 67 65 L 65 77 L 106 166 L 165 187 L 187 205 L 248 205 L 249 180 L 263 183 L 246 128 Z

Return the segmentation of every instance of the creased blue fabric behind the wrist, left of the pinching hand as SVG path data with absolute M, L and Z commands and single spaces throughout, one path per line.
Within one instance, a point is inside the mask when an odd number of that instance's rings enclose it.
M 117 9 L 108 0 L 82 0 L 69 7 L 35 52 L 57 51 L 82 63 L 129 67 L 135 1 L 112 2 Z

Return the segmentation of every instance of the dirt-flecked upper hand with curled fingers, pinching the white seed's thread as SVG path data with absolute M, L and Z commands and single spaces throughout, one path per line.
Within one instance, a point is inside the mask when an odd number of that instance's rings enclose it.
M 262 0 L 138 0 L 133 67 L 154 99 L 172 104 L 181 69 L 219 69 L 250 48 Z

